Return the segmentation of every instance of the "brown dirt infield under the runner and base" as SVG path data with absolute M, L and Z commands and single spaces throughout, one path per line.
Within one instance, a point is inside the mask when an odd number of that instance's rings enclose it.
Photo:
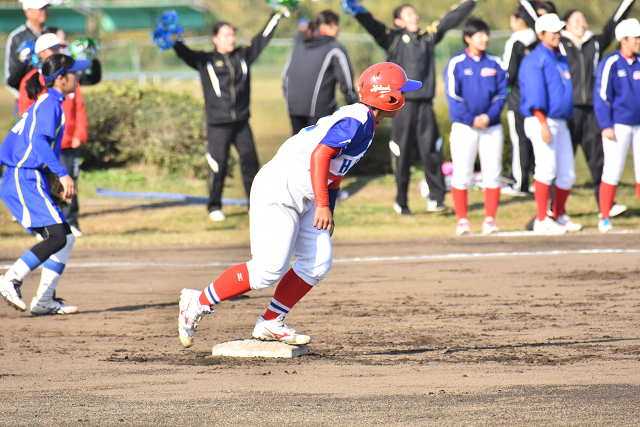
M 637 425 L 637 241 L 340 242 L 287 318 L 313 338 L 293 360 L 210 356 L 250 336 L 273 289 L 221 304 L 191 349 L 178 341 L 180 289 L 248 246 L 77 249 L 58 293 L 81 313 L 0 304 L 0 425 Z

